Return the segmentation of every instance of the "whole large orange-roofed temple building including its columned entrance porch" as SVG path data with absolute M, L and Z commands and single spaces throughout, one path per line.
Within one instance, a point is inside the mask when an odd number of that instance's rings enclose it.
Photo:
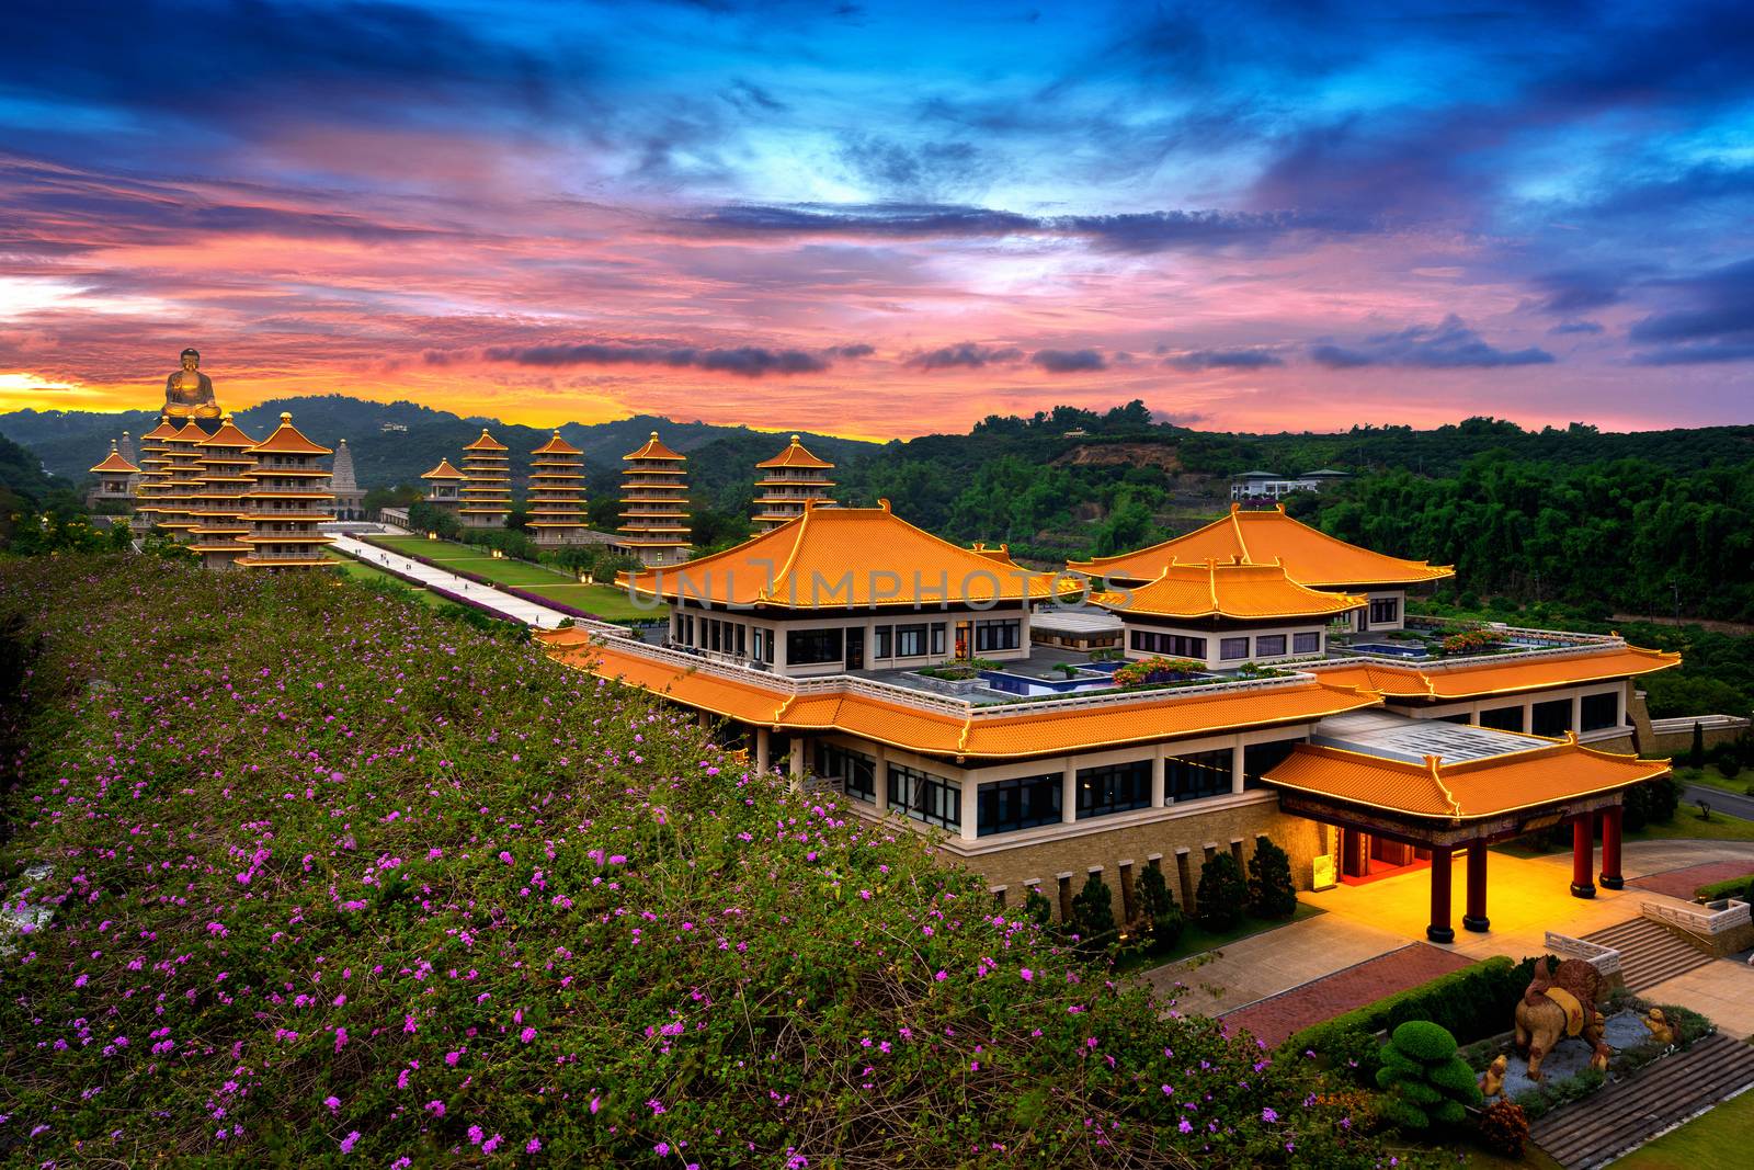
M 1301 888 L 1430 870 L 1428 937 L 1489 930 L 1487 845 L 1573 826 L 1577 896 L 1617 886 L 1638 760 L 1633 681 L 1675 654 L 1612 635 L 1408 617 L 1449 568 L 1384 556 L 1282 512 L 1086 561 L 1089 581 L 965 549 L 882 509 L 805 507 L 688 565 L 623 575 L 670 603 L 656 635 L 538 635 L 558 661 L 698 712 L 758 768 L 938 838 L 1002 900 L 1070 917 L 1091 872 L 1137 916 L 1161 867 L 1196 909 L 1201 865 L 1261 837 Z M 1080 614 L 1114 651 L 1044 646 Z M 1093 630 L 1094 640 L 1094 630 Z M 1168 661 L 1163 661 L 1168 660 Z M 1465 865 L 1463 865 L 1465 860 Z M 1556 891 L 1563 896 L 1563 889 Z

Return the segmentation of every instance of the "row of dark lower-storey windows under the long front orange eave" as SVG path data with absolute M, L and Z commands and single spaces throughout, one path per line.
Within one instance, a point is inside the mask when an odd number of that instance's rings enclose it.
M 1245 747 L 1245 782 L 1252 788 L 1259 775 L 1289 756 L 1296 744 L 1298 740 L 1279 740 Z M 1228 747 L 1165 758 L 1163 795 L 1166 802 L 1179 803 L 1228 795 L 1231 791 L 1231 760 Z M 877 798 L 877 760 L 865 753 L 837 744 L 817 744 L 816 774 L 838 777 L 849 796 L 866 802 Z M 889 765 L 886 779 L 891 809 L 903 810 L 926 824 L 961 830 L 963 788 L 958 781 L 896 763 Z M 993 837 L 1042 824 L 1059 824 L 1065 819 L 1063 786 L 1065 777 L 1059 772 L 982 784 L 975 793 L 975 835 Z M 1149 809 L 1151 760 L 1079 768 L 1075 793 L 1079 821 Z

